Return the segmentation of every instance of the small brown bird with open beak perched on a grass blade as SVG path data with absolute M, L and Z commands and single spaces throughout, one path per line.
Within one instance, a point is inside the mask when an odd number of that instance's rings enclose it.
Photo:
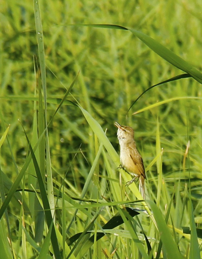
M 138 177 L 139 190 L 145 200 L 144 180 L 146 179 L 146 175 L 142 157 L 134 141 L 134 130 L 131 127 L 122 126 L 118 122 L 115 122 L 114 125 L 118 128 L 117 138 L 120 145 L 120 167 L 133 177 L 131 181 L 126 182 L 126 185 L 129 186 Z

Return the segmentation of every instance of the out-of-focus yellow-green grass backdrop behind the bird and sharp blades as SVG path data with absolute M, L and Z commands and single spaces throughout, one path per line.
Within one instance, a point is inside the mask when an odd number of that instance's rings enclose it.
M 132 126 L 145 167 L 157 156 L 157 150 L 163 148 L 162 172 L 168 192 L 172 194 L 181 179 L 179 192 L 181 199 L 185 199 L 184 190 L 190 181 L 194 215 L 200 218 L 201 99 L 181 99 L 136 115 L 133 113 L 174 97 L 201 98 L 201 84 L 193 78 L 162 84 L 146 92 L 127 113 L 144 90 L 184 72 L 163 60 L 129 31 L 73 24 L 117 24 L 137 29 L 201 71 L 201 1 L 43 0 L 39 1 L 39 6 L 46 61 L 47 121 L 58 107 L 55 100 L 63 98 L 80 70 L 67 99 L 78 102 L 104 131 L 107 129 L 106 135 L 117 152 L 114 122 Z M 35 89 L 38 92 L 38 84 L 41 85 L 33 2 L 2 0 L 0 21 L 0 134 L 5 132 L 3 125 L 10 124 L 9 143 L 20 169 L 28 145 L 18 119 L 32 139 L 35 112 L 32 98 Z M 53 182 L 61 182 L 70 167 L 66 179 L 72 193 L 77 195 L 82 191 L 95 159 L 97 149 L 93 131 L 79 108 L 64 104 L 48 130 Z M 185 154 L 188 141 L 189 154 Z M 17 175 L 6 141 L 0 148 L 0 163 L 2 171 L 13 182 Z M 118 181 L 116 166 L 112 162 L 110 166 L 113 179 Z M 146 182 L 147 197 L 154 201 L 157 167 L 158 164 L 154 163 L 148 168 Z M 106 164 L 102 156 L 99 174 L 105 179 Z M 26 176 L 23 184 L 27 186 Z M 106 197 L 112 197 L 110 190 L 100 188 Z M 89 188 L 86 197 L 94 196 L 91 190 Z M 165 204 L 166 201 L 162 200 L 162 209 Z M 10 212 L 11 219 L 17 220 L 18 212 L 12 205 Z M 173 215 L 174 221 L 180 227 L 177 215 Z M 184 219 L 184 224 L 188 222 Z M 200 227 L 201 222 L 198 223 Z M 14 222 L 11 226 L 16 227 Z

